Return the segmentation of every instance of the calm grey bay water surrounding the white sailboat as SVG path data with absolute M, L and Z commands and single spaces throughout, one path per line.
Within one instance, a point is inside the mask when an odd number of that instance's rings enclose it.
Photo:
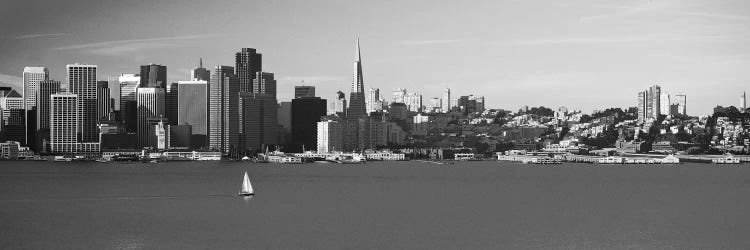
M 0 161 L 0 225 L 2 249 L 747 249 L 750 166 Z

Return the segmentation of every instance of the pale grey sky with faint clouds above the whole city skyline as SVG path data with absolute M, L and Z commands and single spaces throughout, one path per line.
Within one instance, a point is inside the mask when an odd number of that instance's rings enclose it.
M 148 63 L 189 80 L 199 58 L 234 66 L 249 47 L 275 73 L 279 101 L 302 81 L 331 99 L 350 91 L 358 37 L 365 89 L 386 100 L 406 88 L 426 104 L 447 87 L 489 108 L 591 112 L 635 106 L 658 84 L 702 115 L 750 91 L 744 0 L 11 0 L 0 9 L 0 86 L 20 86 L 25 66 L 65 82 L 76 62 L 98 65 L 101 80 Z

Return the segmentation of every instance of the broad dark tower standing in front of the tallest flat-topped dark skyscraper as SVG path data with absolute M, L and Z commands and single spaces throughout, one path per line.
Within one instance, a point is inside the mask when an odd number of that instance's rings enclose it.
M 262 93 L 240 93 L 240 148 L 260 150 L 278 144 L 276 98 Z

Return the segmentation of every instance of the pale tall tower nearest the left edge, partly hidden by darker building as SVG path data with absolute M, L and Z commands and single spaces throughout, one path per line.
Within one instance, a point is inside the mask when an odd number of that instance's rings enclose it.
M 37 99 L 37 85 L 40 81 L 49 79 L 49 71 L 46 67 L 25 67 L 23 68 L 23 107 L 25 109 L 24 119 L 24 130 L 33 129 L 35 126 L 29 128 L 29 119 L 34 119 L 29 115 L 29 112 L 36 108 Z M 34 115 L 36 116 L 36 115 Z M 32 123 L 36 120 L 31 121 Z M 36 131 L 25 131 L 26 136 L 24 137 L 23 145 L 28 145 L 34 138 L 30 138 L 30 135 L 35 134 Z

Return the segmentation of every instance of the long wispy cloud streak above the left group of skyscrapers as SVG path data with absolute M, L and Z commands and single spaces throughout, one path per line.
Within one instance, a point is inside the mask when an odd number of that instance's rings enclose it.
M 86 50 L 89 53 L 106 56 L 124 55 L 146 49 L 176 48 L 184 42 L 216 37 L 216 35 L 189 35 L 175 37 L 159 37 L 147 39 L 115 40 L 97 43 L 84 43 L 54 48 L 54 50 Z

